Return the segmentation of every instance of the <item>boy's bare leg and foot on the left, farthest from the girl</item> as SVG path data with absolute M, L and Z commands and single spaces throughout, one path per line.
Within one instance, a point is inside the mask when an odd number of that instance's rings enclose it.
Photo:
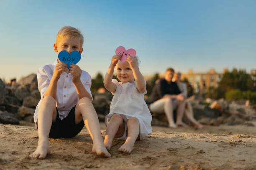
M 56 120 L 56 115 L 56 100 L 51 96 L 44 97 L 37 118 L 38 146 L 36 151 L 30 155 L 32 158 L 44 159 L 50 153 L 48 138 L 52 121 Z

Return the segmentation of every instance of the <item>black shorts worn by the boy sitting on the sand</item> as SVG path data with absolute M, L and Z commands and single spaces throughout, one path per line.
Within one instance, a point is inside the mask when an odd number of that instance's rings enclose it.
M 67 117 L 63 120 L 59 118 L 59 112 L 56 108 L 57 117 L 56 121 L 52 122 L 49 138 L 72 138 L 76 136 L 84 127 L 84 121 L 82 120 L 78 124 L 75 122 L 76 106 L 72 107 Z

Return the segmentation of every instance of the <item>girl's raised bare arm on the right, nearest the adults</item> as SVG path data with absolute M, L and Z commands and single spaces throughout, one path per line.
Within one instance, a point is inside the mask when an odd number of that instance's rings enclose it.
M 146 82 L 138 68 L 138 59 L 137 57 L 127 57 L 126 61 L 129 63 L 131 69 L 133 70 L 133 76 L 136 81 L 137 88 L 140 92 L 146 91 Z

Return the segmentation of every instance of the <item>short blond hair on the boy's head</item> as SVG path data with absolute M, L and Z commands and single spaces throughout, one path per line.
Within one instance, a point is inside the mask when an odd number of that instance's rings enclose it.
M 66 37 L 68 39 L 69 38 L 77 38 L 80 40 L 81 48 L 83 46 L 84 36 L 82 35 L 81 31 L 78 30 L 77 28 L 74 28 L 71 26 L 65 26 L 65 27 L 61 28 L 61 30 L 59 30 L 59 32 L 57 34 L 56 43 L 58 43 L 62 37 Z

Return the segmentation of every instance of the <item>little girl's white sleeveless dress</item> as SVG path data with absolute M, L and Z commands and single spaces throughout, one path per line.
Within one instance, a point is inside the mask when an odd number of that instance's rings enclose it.
M 145 80 L 146 81 L 146 80 Z M 107 125 L 110 118 L 115 114 L 120 114 L 126 123 L 131 117 L 136 117 L 139 120 L 140 140 L 143 140 L 146 135 L 151 133 L 151 120 L 152 115 L 144 100 L 144 95 L 147 93 L 140 92 L 137 89 L 136 82 L 118 82 L 116 79 L 112 80 L 116 85 L 115 93 L 110 105 L 110 113 L 105 117 L 105 125 Z M 126 133 L 124 134 L 125 137 Z M 125 140 L 126 138 L 122 138 Z

